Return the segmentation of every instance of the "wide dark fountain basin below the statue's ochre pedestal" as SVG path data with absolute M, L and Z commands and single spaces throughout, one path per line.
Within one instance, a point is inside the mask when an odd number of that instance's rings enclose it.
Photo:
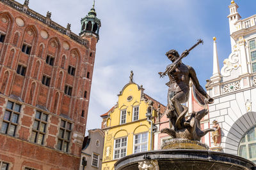
M 250 160 L 207 150 L 156 150 L 128 155 L 115 163 L 116 170 L 255 170 Z

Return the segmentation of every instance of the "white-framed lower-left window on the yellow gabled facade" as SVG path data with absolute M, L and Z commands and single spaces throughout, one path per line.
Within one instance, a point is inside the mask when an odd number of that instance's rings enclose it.
M 115 148 L 114 148 L 114 159 L 119 159 L 126 156 L 127 148 L 127 137 L 115 139 Z

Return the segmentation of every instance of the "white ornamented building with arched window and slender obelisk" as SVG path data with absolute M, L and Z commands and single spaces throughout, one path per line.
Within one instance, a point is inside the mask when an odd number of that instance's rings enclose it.
M 221 127 L 223 152 L 256 163 L 256 15 L 241 19 L 234 1 L 228 8 L 232 52 L 220 70 L 214 38 L 213 73 L 206 86 L 214 98 L 209 117 Z

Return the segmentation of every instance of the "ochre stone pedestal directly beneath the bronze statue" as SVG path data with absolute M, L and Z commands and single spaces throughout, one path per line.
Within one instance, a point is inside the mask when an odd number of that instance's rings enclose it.
M 170 139 L 165 141 L 161 146 L 162 150 L 173 149 L 192 149 L 192 150 L 209 150 L 209 146 L 199 141 L 190 141 L 188 139 Z

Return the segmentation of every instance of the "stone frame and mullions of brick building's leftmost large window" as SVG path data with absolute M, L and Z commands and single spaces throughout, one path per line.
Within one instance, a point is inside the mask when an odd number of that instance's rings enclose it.
M 12 103 L 12 108 L 7 108 L 8 107 L 8 103 Z M 17 111 L 17 108 L 15 108 L 16 105 L 19 106 L 19 111 Z M 14 101 L 7 101 L 6 109 L 4 111 L 3 122 L 2 122 L 2 126 L 1 126 L 1 133 L 8 134 L 10 136 L 15 136 L 15 133 L 16 133 L 16 130 L 17 130 L 17 126 L 19 125 L 19 118 L 20 118 L 20 110 L 21 109 L 22 109 L 22 104 L 15 103 Z M 8 117 L 8 120 L 5 119 L 6 111 L 8 111 L 10 113 L 10 115 Z M 16 122 L 13 122 L 14 121 L 13 120 L 13 115 L 17 115 Z M 3 124 L 4 123 L 7 124 L 5 132 L 3 132 Z M 13 134 L 9 133 L 11 125 L 12 125 L 12 127 L 14 127 Z

